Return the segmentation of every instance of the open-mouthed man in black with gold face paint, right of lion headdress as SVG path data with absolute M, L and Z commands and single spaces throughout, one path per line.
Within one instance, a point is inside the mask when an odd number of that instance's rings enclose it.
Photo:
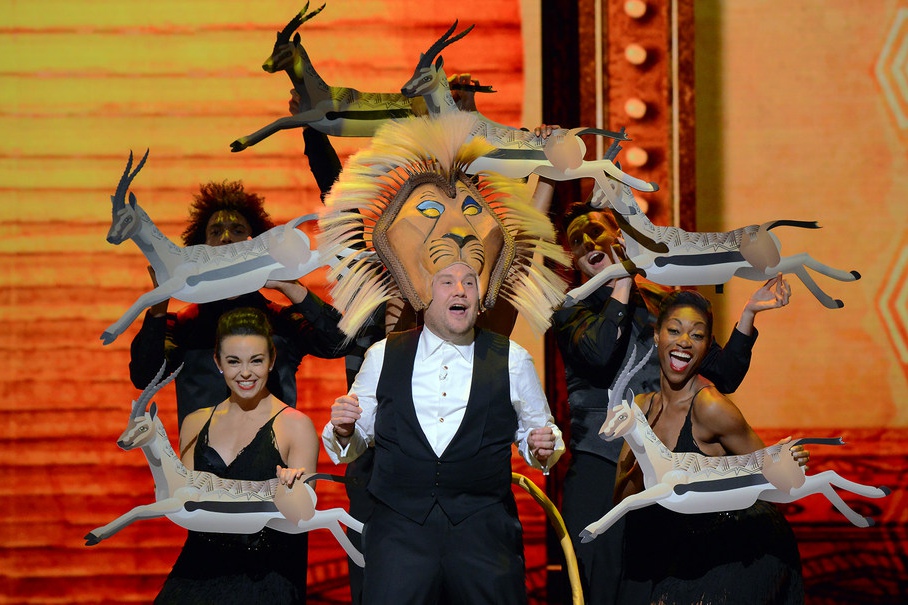
M 574 266 L 589 279 L 624 259 L 621 233 L 611 211 L 574 204 L 563 219 Z M 621 575 L 621 519 L 606 534 L 582 543 L 580 532 L 613 506 L 619 441 L 603 441 L 599 428 L 608 407 L 608 389 L 634 346 L 647 350 L 653 323 L 667 288 L 624 277 L 603 284 L 579 304 L 559 309 L 553 331 L 565 366 L 570 406 L 570 466 L 564 481 L 562 514 L 580 566 L 584 595 L 590 603 L 617 603 Z M 781 277 L 767 282 L 750 298 L 723 349 L 710 340 L 700 371 L 724 393 L 741 384 L 750 367 L 757 338 L 757 313 L 788 303 L 790 288 Z M 633 378 L 635 393 L 659 388 L 655 356 Z M 625 595 L 625 598 L 630 598 Z

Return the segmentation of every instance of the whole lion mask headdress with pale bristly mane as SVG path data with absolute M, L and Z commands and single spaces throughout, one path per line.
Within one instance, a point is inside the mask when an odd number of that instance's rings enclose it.
M 569 261 L 523 181 L 466 173 L 495 149 L 471 136 L 477 122 L 466 112 L 389 122 L 344 166 L 319 249 L 342 258 L 329 279 L 349 337 L 391 298 L 425 309 L 435 273 L 458 262 L 479 276 L 483 309 L 501 296 L 534 329 L 548 327 L 566 284 L 544 263 Z

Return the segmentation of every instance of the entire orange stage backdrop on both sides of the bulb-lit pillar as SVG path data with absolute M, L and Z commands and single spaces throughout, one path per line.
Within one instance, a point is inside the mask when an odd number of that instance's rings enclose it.
M 149 285 L 132 243 L 104 241 L 108 197 L 129 150 L 150 147 L 133 190 L 175 240 L 207 180 L 243 179 L 276 221 L 318 209 L 298 132 L 228 149 L 287 114 L 289 81 L 259 65 L 301 4 L 0 1 L 0 603 L 147 602 L 175 560 L 184 532 L 168 521 L 82 546 L 88 530 L 153 497 L 143 456 L 115 445 L 137 394 L 127 362 L 138 326 L 110 346 L 98 340 Z M 538 92 L 538 57 L 525 47 L 536 30 L 525 5 L 534 3 L 331 0 L 301 33 L 330 84 L 393 91 L 455 18 L 475 22 L 445 51 L 448 73 L 494 85 L 477 101 L 490 118 L 534 126 L 525 99 Z M 818 278 L 846 301 L 838 311 L 793 282 L 792 305 L 758 320 L 754 366 L 735 400 L 767 441 L 844 434 L 849 447 L 817 451 L 815 470 L 833 464 L 896 488 L 868 505 L 882 522 L 873 530 L 852 530 L 817 497 L 788 512 L 811 602 L 860 602 L 862 588 L 875 599 L 865 602 L 884 602 L 880 585 L 897 599 L 908 590 L 908 2 L 698 0 L 695 9 L 698 227 L 816 219 L 822 231 L 780 233 L 784 252 L 864 275 Z M 363 144 L 333 141 L 342 157 Z M 318 277 L 309 282 L 324 295 Z M 713 297 L 720 339 L 755 285 Z M 300 405 L 321 426 L 344 390 L 343 362 L 308 359 L 298 376 Z M 175 437 L 172 389 L 157 401 Z M 326 457 L 320 467 L 339 470 Z M 340 486 L 319 490 L 321 507 L 345 504 Z M 521 505 L 529 581 L 542 594 L 545 523 Z M 322 533 L 311 544 L 312 602 L 344 602 L 341 549 Z M 856 592 L 824 595 L 818 578 L 844 578 Z

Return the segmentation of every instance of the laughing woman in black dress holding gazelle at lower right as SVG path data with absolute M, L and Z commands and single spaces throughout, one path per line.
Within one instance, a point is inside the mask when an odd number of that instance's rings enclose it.
M 635 399 L 653 431 L 674 452 L 747 454 L 764 447 L 741 411 L 698 371 L 712 340 L 710 303 L 697 292 L 670 294 L 654 340 L 661 390 Z M 798 462 L 808 453 L 792 448 Z M 643 488 L 627 445 L 618 463 L 616 501 Z M 774 504 L 681 514 L 661 506 L 632 511 L 625 529 L 624 596 L 650 586 L 644 603 L 699 605 L 803 603 L 797 543 Z M 619 598 L 620 603 L 637 602 Z

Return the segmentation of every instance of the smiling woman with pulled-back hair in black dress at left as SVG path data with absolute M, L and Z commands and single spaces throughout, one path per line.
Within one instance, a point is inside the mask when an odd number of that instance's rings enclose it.
M 312 421 L 268 391 L 274 366 L 271 327 L 257 309 L 218 321 L 215 363 L 230 388 L 225 401 L 186 417 L 180 457 L 187 468 L 225 479 L 293 485 L 315 471 Z M 264 528 L 255 534 L 190 531 L 155 603 L 306 602 L 306 534 Z

